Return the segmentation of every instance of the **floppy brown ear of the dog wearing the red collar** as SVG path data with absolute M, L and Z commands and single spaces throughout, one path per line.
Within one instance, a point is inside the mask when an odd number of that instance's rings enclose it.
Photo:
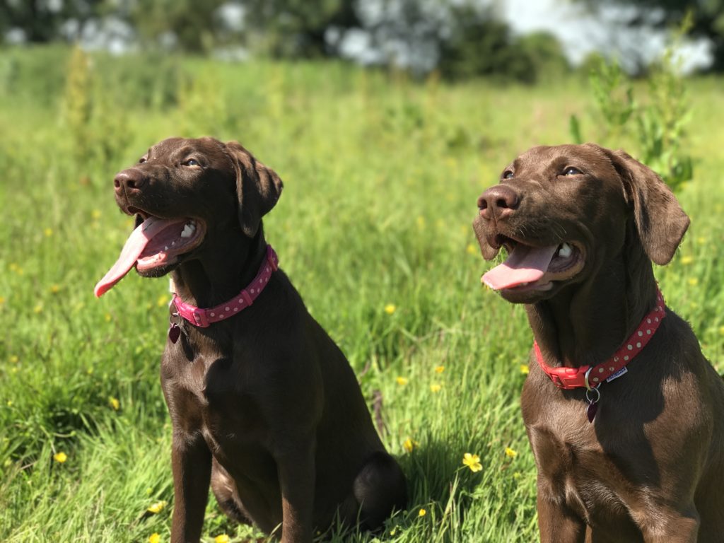
M 644 251 L 656 264 L 668 264 L 689 228 L 689 216 L 651 168 L 620 149 L 604 151 L 623 180 L 626 197 L 633 203 L 633 217 Z

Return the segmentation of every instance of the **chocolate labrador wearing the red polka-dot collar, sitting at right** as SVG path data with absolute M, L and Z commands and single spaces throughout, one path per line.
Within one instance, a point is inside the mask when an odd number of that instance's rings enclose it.
M 724 541 L 724 385 L 652 261 L 689 227 L 623 151 L 536 147 L 478 201 L 483 281 L 524 303 L 521 399 L 544 543 Z

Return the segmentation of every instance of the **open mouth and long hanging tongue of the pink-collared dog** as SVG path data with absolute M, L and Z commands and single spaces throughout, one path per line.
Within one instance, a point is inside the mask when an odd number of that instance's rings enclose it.
M 197 247 L 203 240 L 206 227 L 197 219 L 161 219 L 136 211 L 136 227 L 128 237 L 116 263 L 93 290 L 101 296 L 119 282 L 135 266 L 149 271 L 174 264 L 177 258 Z

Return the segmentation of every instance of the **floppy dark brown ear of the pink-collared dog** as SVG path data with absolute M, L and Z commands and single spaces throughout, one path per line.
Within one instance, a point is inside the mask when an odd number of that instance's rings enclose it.
M 256 160 L 240 143 L 226 143 L 236 170 L 236 195 L 239 201 L 241 230 L 254 237 L 261 217 L 279 200 L 284 184 L 273 169 Z

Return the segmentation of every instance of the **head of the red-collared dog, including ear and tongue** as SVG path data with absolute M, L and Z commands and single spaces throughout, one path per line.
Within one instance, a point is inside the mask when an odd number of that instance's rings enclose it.
M 516 303 L 552 298 L 636 244 L 667 264 L 689 227 L 652 169 L 592 143 L 531 148 L 503 169 L 478 208 L 473 229 L 484 258 L 508 252 L 483 281 Z

